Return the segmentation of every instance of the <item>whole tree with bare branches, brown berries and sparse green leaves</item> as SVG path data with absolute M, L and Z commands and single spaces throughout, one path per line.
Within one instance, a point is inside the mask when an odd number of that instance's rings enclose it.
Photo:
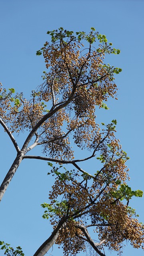
M 87 246 L 104 256 L 104 246 L 120 251 L 125 240 L 140 248 L 144 242 L 143 225 L 128 204 L 132 196 L 141 197 L 143 193 L 126 184 L 128 156 L 115 137 L 116 120 L 102 123 L 100 129 L 95 114 L 97 106 L 108 109 L 105 102 L 117 92 L 114 74 L 122 71 L 104 64 L 104 56 L 119 54 L 120 50 L 112 48 L 106 36 L 94 28 L 88 35 L 74 35 L 63 28 L 47 34 L 51 42 L 36 54 L 43 54 L 48 71 L 43 72 L 44 82 L 32 91 L 31 99 L 15 94 L 14 88 L 0 90 L 0 124 L 17 152 L 0 186 L 0 200 L 23 159 L 45 160 L 52 168 L 48 175 L 56 176 L 56 180 L 50 202 L 42 204 L 43 218 L 51 218 L 54 230 L 34 256 L 45 255 L 54 243 L 62 245 L 66 256 L 85 251 Z M 28 136 L 20 149 L 13 133 L 26 131 Z M 70 142 L 87 149 L 88 156 L 76 159 Z M 27 154 L 38 145 L 45 156 Z M 92 158 L 100 161 L 95 174 L 80 167 L 80 162 Z M 74 169 L 64 167 L 62 171 L 64 164 L 71 164 Z M 92 240 L 90 227 L 98 233 L 100 242 Z M 8 245 L 2 247 L 7 255 L 23 255 L 20 247 L 14 251 Z M 17 254 L 10 252 L 12 249 Z

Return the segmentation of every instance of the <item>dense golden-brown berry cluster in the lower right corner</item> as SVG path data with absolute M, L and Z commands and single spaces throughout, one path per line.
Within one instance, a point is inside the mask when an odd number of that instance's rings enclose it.
M 124 241 L 130 241 L 134 248 L 140 248 L 144 244 L 144 230 L 142 224 L 136 218 L 128 215 L 127 208 L 122 202 L 116 205 L 103 202 L 106 210 L 104 214 L 108 218 L 108 227 L 99 228 L 99 239 L 107 237 L 105 246 L 110 250 L 119 251 Z

